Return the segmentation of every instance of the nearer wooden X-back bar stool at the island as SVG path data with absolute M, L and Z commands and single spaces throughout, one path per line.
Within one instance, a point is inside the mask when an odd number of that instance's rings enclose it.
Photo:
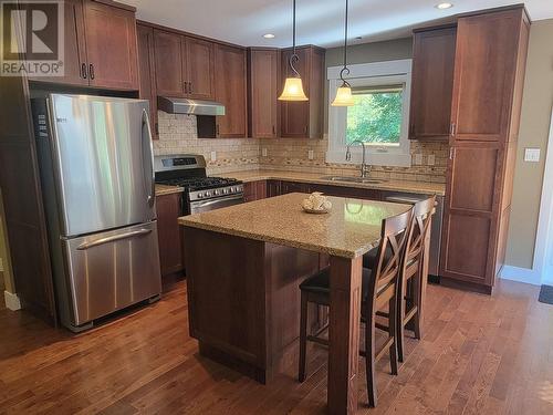
M 368 403 L 376 406 L 375 364 L 389 352 L 392 373 L 397 374 L 397 295 L 399 294 L 399 274 L 405 256 L 407 234 L 410 229 L 413 209 L 383 220 L 380 243 L 376 253 L 374 270 L 364 268 L 362 276 L 362 322 L 365 323 L 365 356 L 367 372 Z M 389 253 L 386 253 L 389 252 Z M 307 341 L 328 345 L 328 341 L 320 334 L 326 326 L 314 334 L 307 334 L 307 304 L 330 304 L 330 269 L 325 268 L 300 284 L 301 289 L 301 323 L 300 323 L 300 364 L 299 381 L 305 380 L 305 353 Z M 376 322 L 377 310 L 388 307 L 388 325 Z M 377 351 L 375 346 L 375 329 L 387 333 L 384 345 Z M 332 347 L 332 344 L 330 344 Z

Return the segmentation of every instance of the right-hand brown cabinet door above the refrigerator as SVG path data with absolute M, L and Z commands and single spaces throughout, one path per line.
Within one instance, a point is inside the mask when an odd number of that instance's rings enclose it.
M 90 84 L 138 90 L 135 13 L 85 1 L 84 15 Z

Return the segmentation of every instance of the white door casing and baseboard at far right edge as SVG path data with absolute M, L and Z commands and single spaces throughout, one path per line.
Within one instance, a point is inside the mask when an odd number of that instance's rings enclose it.
M 532 269 L 504 266 L 500 278 L 505 280 L 553 286 L 553 112 L 547 143 Z

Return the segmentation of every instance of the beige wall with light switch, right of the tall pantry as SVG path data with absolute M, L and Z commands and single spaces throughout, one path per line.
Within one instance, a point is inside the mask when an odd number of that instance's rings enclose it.
M 534 255 L 553 104 L 552 41 L 553 19 L 532 23 L 505 258 L 507 264 L 521 268 L 532 268 Z M 540 163 L 524 163 L 526 147 L 541 149 Z

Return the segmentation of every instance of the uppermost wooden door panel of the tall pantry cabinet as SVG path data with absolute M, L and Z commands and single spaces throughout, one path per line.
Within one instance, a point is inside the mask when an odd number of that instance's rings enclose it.
M 518 63 L 521 11 L 460 18 L 451 123 L 456 141 L 504 141 Z

